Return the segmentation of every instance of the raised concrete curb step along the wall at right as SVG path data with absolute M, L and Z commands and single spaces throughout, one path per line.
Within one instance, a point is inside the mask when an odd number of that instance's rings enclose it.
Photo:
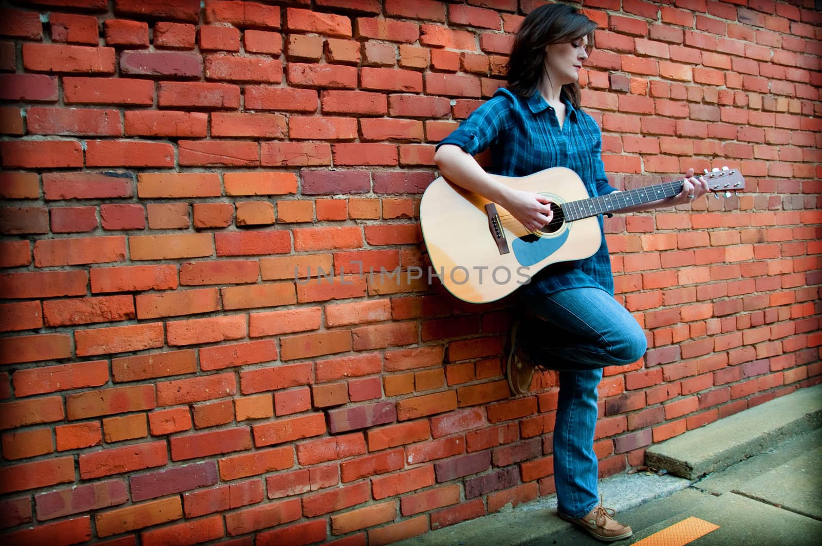
M 655 444 L 645 451 L 645 464 L 699 479 L 820 426 L 822 385 L 817 385 Z

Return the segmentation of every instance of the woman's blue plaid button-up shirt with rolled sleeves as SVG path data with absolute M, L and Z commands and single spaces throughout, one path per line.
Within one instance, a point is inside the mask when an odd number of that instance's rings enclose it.
M 494 174 L 527 176 L 549 167 L 567 167 L 580 175 L 591 197 L 616 192 L 608 183 L 601 157 L 599 127 L 582 109 L 563 96 L 566 121 L 559 126 L 554 109 L 543 96 L 525 98 L 507 89 L 496 90 L 492 99 L 476 109 L 438 145 L 454 144 L 471 155 L 491 147 Z M 532 289 L 547 294 L 569 288 L 593 287 L 613 295 L 611 258 L 603 233 L 599 250 L 589 258 L 547 266 L 535 275 Z

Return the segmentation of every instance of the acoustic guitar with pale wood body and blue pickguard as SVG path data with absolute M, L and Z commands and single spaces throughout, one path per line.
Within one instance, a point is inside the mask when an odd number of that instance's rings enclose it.
M 685 182 L 589 197 L 580 177 L 565 167 L 524 177 L 492 176 L 548 197 L 554 215 L 549 224 L 529 231 L 501 206 L 444 177 L 427 187 L 420 223 L 433 272 L 451 294 L 469 303 L 504 298 L 546 266 L 593 256 L 602 239 L 597 215 L 673 197 Z M 706 170 L 702 176 L 717 198 L 718 192 L 730 197 L 745 187 L 738 169 Z

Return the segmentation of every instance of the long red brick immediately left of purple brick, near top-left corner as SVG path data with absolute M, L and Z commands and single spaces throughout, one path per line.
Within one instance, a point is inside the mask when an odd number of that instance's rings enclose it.
M 23 66 L 39 72 L 114 73 L 114 49 L 82 45 L 23 44 Z

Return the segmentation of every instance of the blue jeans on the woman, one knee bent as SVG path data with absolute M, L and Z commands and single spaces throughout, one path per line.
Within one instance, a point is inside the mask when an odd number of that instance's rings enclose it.
M 532 283 L 517 294 L 538 317 L 520 324 L 517 343 L 534 363 L 559 370 L 553 438 L 557 509 L 583 517 L 599 502 L 593 433 L 603 368 L 635 363 L 647 340 L 634 317 L 603 289 L 544 294 Z

